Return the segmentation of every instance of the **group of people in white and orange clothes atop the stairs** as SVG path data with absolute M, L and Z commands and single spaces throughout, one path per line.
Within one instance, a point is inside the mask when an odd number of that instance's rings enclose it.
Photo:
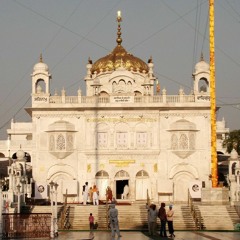
M 93 205 L 99 205 L 99 191 L 94 184 L 93 187 L 88 187 L 88 182 L 83 185 L 83 205 L 87 205 L 87 202 L 93 203 Z

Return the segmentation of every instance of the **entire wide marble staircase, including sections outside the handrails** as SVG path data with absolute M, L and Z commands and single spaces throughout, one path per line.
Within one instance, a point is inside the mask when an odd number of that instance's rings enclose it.
M 157 206 L 159 208 L 159 206 Z M 63 206 L 58 206 L 58 212 Z M 119 225 L 122 230 L 147 230 L 147 209 L 145 202 L 132 202 L 131 204 L 121 203 L 116 205 L 119 212 Z M 166 206 L 166 210 L 168 206 Z M 106 205 L 79 205 L 68 204 L 69 227 L 72 230 L 89 230 L 89 214 L 92 213 L 95 222 L 98 223 L 98 230 L 108 229 L 107 206 Z M 175 204 L 174 228 L 175 230 L 196 230 L 200 229 L 193 218 L 191 209 L 187 204 Z M 236 223 L 240 223 L 240 218 L 234 207 L 229 205 L 194 205 L 195 215 L 198 224 L 205 230 L 234 230 Z M 33 213 L 51 213 L 51 206 L 34 206 Z M 58 214 L 60 216 L 60 214 Z M 59 218 L 59 228 L 61 219 Z M 160 221 L 157 220 L 158 229 Z

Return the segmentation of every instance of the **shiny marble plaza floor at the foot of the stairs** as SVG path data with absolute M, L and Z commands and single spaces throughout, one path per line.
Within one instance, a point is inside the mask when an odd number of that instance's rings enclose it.
M 59 232 L 58 240 L 167 240 L 160 236 L 150 237 L 147 232 L 140 231 L 122 231 L 120 238 L 112 238 L 110 232 L 94 232 L 94 238 L 90 238 L 88 231 L 66 231 Z M 205 231 L 176 231 L 174 240 L 239 240 L 240 232 L 205 232 Z

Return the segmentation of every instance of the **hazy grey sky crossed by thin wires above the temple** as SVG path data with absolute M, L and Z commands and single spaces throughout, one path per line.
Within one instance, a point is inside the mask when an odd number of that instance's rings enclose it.
M 201 53 L 209 63 L 209 0 L 1 0 L 0 139 L 11 119 L 30 121 L 31 73 L 43 62 L 52 74 L 51 93 L 85 93 L 93 62 L 116 46 L 117 11 L 122 46 L 145 62 L 152 56 L 161 89 L 177 95 L 193 89 Z M 217 119 L 240 129 L 240 1 L 215 0 Z

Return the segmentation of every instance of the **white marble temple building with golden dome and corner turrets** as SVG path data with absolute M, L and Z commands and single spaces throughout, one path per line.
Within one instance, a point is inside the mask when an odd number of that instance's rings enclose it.
M 153 60 L 128 53 L 118 29 L 114 50 L 86 65 L 85 96 L 80 89 L 76 96 L 51 93 L 42 58 L 31 76 L 32 121 L 12 122 L 0 152 L 12 156 L 21 145 L 31 156 L 36 189 L 53 180 L 59 201 L 67 190 L 68 201 L 80 202 L 85 182 L 97 184 L 103 200 L 107 186 L 120 199 L 128 184 L 131 200 L 146 200 L 148 191 L 152 201 L 182 202 L 192 182 L 211 187 L 210 76 L 203 59 L 191 94 L 168 95 Z

